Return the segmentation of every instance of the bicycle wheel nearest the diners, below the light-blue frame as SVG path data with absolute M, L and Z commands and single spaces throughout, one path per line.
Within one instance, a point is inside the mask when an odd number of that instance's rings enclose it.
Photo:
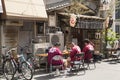
M 22 62 L 21 64 L 22 75 L 26 80 L 31 80 L 33 77 L 33 69 L 29 62 Z

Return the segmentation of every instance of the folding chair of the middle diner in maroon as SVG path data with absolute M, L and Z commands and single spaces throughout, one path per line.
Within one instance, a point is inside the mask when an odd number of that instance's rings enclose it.
M 85 74 L 84 52 L 75 55 L 75 60 L 71 61 L 71 71 L 72 70 L 75 70 L 76 72 L 82 70 Z

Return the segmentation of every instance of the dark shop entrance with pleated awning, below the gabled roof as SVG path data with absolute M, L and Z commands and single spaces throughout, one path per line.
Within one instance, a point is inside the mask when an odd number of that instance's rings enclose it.
M 104 19 L 96 16 L 85 16 L 85 15 L 76 15 L 76 20 L 72 20 L 74 25 L 70 24 L 71 15 L 60 14 L 68 20 L 67 23 L 61 25 L 63 32 L 66 34 L 66 44 L 69 41 L 72 41 L 78 44 L 81 49 L 83 48 L 83 40 L 88 38 L 95 45 L 95 50 L 101 52 L 102 50 L 102 30 L 104 29 Z M 67 17 L 66 17 L 67 16 Z M 62 19 L 63 20 L 63 19 Z M 60 24 L 63 24 L 63 21 L 60 21 Z M 68 22 L 69 21 L 69 22 Z M 68 26 L 68 27 L 66 27 Z M 68 38 L 68 39 L 67 39 Z

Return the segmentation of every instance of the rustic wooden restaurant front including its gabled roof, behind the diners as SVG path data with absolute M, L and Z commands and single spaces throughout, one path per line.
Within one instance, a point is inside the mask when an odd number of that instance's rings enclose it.
M 101 34 L 101 30 L 103 29 L 104 20 L 98 17 L 94 18 L 94 16 L 98 16 L 99 14 L 98 4 L 100 4 L 100 0 L 85 0 L 86 2 L 77 2 L 77 0 L 75 2 L 73 0 L 45 1 L 46 10 L 49 16 L 48 27 L 60 28 L 64 35 L 64 46 L 67 42 L 74 41 L 83 48 L 83 39 L 90 38 L 95 42 L 95 45 L 97 46 L 96 50 L 101 50 L 101 36 L 99 36 L 99 34 Z M 69 21 L 71 14 L 75 14 L 77 16 L 75 27 L 70 26 Z M 52 23 L 53 25 L 51 25 L 50 21 L 54 22 Z

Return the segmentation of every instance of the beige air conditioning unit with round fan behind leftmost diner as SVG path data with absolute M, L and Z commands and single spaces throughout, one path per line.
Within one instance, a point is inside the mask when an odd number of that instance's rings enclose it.
M 64 49 L 64 34 L 60 31 L 56 32 L 56 33 L 49 33 L 48 37 L 49 40 L 48 42 L 50 43 L 50 46 L 53 46 L 54 43 L 59 42 L 60 45 L 60 50 Z

